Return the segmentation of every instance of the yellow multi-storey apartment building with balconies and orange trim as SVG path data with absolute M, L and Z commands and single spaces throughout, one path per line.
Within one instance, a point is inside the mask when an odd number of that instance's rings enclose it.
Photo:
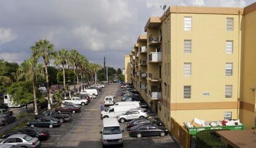
M 240 118 L 247 128 L 255 126 L 255 10 L 256 3 L 245 8 L 171 6 L 161 17 L 148 19 L 147 70 L 138 69 L 147 71 L 142 97 L 168 129 L 171 117 L 180 124 L 192 118 Z

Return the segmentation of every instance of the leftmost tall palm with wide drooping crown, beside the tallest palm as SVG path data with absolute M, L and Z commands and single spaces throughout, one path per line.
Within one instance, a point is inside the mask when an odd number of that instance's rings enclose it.
M 33 98 L 35 115 L 38 113 L 37 102 L 36 102 L 36 76 L 43 75 L 43 64 L 37 64 L 37 59 L 31 57 L 20 65 L 17 71 L 19 78 L 25 78 L 26 81 L 31 81 L 33 86 Z

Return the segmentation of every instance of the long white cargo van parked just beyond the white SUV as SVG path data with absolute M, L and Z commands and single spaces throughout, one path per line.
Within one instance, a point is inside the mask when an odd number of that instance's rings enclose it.
M 137 109 L 135 105 L 113 105 L 101 111 L 101 118 L 116 118 L 130 109 Z

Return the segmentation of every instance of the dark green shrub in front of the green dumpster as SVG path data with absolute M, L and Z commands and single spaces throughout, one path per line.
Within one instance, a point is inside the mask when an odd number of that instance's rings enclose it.
M 195 147 L 197 148 L 226 148 L 221 142 L 220 136 L 215 133 L 216 130 L 200 131 L 196 134 Z

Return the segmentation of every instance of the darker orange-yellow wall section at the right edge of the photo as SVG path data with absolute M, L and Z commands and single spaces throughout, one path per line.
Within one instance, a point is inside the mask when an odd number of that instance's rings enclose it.
M 246 9 L 246 8 L 245 8 Z M 247 128 L 255 127 L 256 89 L 256 10 L 242 19 L 241 120 Z

